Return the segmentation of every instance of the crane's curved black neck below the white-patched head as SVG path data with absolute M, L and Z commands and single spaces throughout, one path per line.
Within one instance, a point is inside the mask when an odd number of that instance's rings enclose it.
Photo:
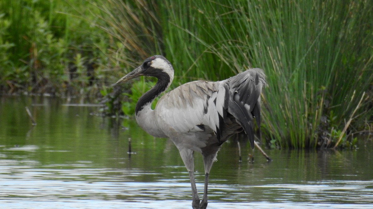
M 155 77 L 158 78 L 156 85 L 140 97 L 136 104 L 135 115 L 167 89 L 170 83 L 170 76 L 167 73 L 159 73 Z

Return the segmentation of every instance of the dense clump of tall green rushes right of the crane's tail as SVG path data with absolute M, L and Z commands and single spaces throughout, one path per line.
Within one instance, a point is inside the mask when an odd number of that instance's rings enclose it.
M 216 4 L 198 5 L 213 20 L 208 35 L 216 44 L 200 42 L 234 70 L 243 63 L 265 70 L 263 118 L 272 142 L 333 144 L 330 127 L 344 128 L 373 81 L 372 3 L 229 1 L 220 10 Z M 360 116 L 355 120 L 369 118 Z

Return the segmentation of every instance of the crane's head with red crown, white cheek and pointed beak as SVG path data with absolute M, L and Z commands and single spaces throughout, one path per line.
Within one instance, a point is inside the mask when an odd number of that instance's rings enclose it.
M 162 55 L 154 55 L 145 59 L 138 68 L 133 70 L 131 73 L 128 73 L 123 78 L 120 78 L 115 84 L 128 81 L 141 75 L 153 76 L 158 79 L 168 79 L 169 83 L 171 83 L 173 80 L 173 67 L 172 64 Z

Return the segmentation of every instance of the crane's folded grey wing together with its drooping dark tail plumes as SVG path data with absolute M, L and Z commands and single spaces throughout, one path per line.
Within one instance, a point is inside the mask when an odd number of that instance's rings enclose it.
M 165 94 L 155 111 L 166 123 L 164 128 L 187 133 L 204 131 L 204 126 L 209 126 L 219 142 L 229 113 L 242 126 L 253 147 L 253 116 L 260 126 L 260 93 L 265 85 L 264 73 L 258 68 L 224 81 L 193 81 Z

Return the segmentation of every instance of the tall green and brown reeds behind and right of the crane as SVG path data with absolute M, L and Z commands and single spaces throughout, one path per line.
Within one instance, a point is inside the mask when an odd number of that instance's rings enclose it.
M 132 65 L 162 53 L 184 78 L 176 85 L 263 68 L 263 138 L 315 148 L 322 134 L 361 129 L 372 115 L 366 101 L 350 100 L 373 82 L 372 9 L 369 1 L 110 0 L 100 15 L 120 40 L 116 55 Z

